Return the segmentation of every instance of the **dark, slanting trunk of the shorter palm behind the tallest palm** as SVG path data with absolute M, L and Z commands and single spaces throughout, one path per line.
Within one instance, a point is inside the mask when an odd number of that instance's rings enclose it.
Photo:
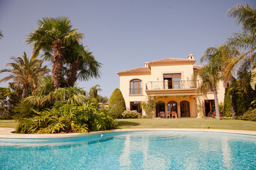
M 69 86 L 74 86 L 75 81 L 78 79 L 78 68 L 79 67 L 79 61 L 76 60 L 72 64 L 70 64 L 70 69 L 67 72 L 67 78 L 65 81 L 68 83 Z

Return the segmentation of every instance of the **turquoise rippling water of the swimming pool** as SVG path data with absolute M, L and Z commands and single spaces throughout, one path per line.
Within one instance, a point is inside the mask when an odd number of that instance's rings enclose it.
M 256 137 L 146 131 L 0 138 L 0 169 L 256 169 Z

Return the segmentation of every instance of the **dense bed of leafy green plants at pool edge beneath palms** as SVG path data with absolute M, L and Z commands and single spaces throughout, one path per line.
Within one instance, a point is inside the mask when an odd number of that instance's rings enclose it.
M 94 103 L 55 103 L 37 112 L 32 118 L 22 118 L 16 128 L 20 133 L 90 132 L 116 127 L 110 111 L 100 110 Z

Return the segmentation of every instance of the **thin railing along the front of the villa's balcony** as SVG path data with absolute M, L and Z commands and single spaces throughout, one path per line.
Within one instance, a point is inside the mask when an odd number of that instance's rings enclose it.
M 198 81 L 196 81 L 196 86 L 198 86 Z M 146 83 L 146 90 L 196 89 L 196 86 L 191 80 L 149 81 L 148 83 Z

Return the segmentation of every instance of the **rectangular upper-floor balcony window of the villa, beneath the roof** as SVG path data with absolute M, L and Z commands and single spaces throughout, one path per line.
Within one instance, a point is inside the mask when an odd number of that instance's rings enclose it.
M 164 74 L 164 89 L 181 89 L 181 74 Z

